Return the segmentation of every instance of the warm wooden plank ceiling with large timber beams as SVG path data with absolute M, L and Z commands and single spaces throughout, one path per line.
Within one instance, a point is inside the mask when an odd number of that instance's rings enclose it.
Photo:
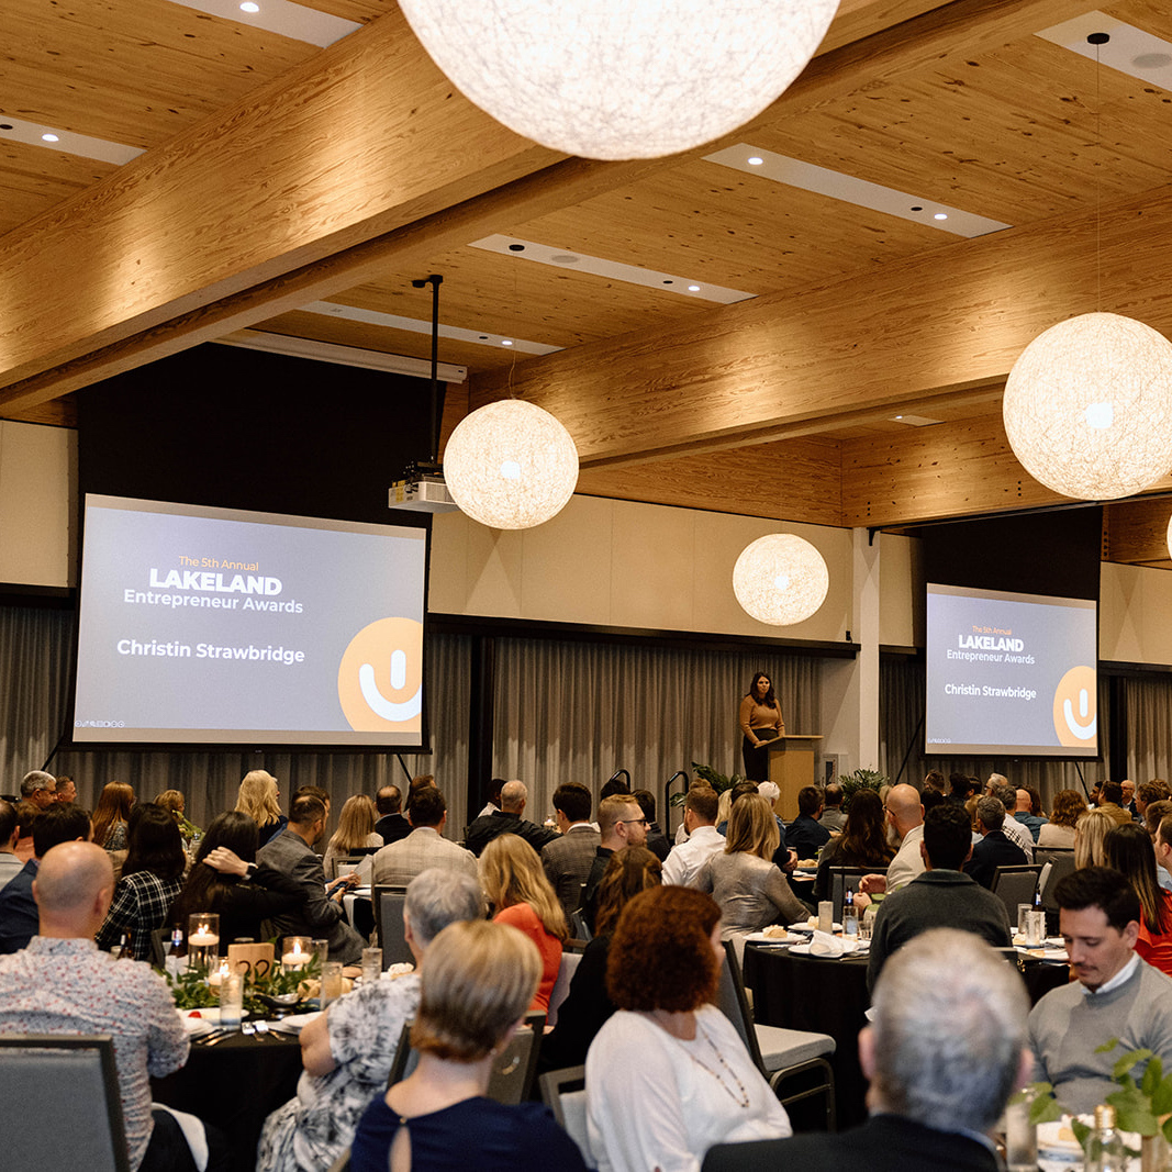
M 394 0 L 306 7 L 362 27 L 319 49 L 170 0 L 6 0 L 0 124 L 143 154 L 0 129 L 0 414 L 68 423 L 90 383 L 247 331 L 427 357 L 424 333 L 306 307 L 427 320 L 411 280 L 442 273 L 445 325 L 559 348 L 444 340 L 469 370 L 449 424 L 516 394 L 570 428 L 579 491 L 890 527 L 1062 503 L 1001 425 L 1042 329 L 1101 305 L 1172 334 L 1172 95 L 1035 35 L 1086 0 L 843 0 L 752 123 L 632 163 L 495 123 Z M 1172 41 L 1164 2 L 1101 11 Z M 706 161 L 735 143 L 1010 226 L 966 239 Z M 752 297 L 471 246 L 492 234 Z M 1167 564 L 1166 515 L 1112 506 L 1105 556 Z

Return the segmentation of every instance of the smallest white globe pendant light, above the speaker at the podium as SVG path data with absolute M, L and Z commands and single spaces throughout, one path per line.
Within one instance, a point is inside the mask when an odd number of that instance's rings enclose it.
M 788 627 L 809 619 L 826 599 L 823 556 L 793 533 L 770 533 L 745 546 L 732 567 L 732 593 L 754 619 Z

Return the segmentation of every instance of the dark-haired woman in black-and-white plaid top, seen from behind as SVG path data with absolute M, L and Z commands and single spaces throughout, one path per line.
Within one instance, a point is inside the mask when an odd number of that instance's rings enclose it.
M 113 952 L 125 939 L 135 960 L 150 960 L 151 933 L 166 924 L 168 912 L 183 891 L 188 857 L 178 823 L 170 811 L 154 804 L 130 811 L 127 844 L 127 860 L 98 928 L 97 947 Z

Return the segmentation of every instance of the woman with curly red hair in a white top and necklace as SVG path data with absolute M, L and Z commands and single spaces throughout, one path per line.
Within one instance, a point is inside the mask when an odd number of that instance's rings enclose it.
M 714 1144 L 776 1139 L 790 1120 L 715 1006 L 721 911 L 689 887 L 635 895 L 606 965 L 618 1013 L 586 1056 L 599 1172 L 699 1172 Z

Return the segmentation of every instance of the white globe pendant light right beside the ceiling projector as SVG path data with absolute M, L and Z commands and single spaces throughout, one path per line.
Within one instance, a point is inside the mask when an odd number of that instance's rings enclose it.
M 472 411 L 452 431 L 443 475 L 456 504 L 492 529 L 532 529 L 578 484 L 578 449 L 548 413 L 520 400 Z

